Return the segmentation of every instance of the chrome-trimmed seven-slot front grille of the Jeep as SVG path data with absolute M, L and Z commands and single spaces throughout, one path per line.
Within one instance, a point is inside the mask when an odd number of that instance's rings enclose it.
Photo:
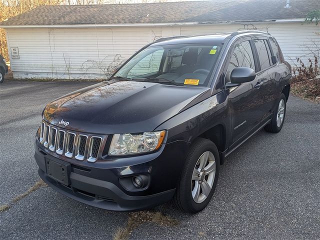
M 101 144 L 106 136 L 83 134 L 41 123 L 40 143 L 52 152 L 77 160 L 95 162 L 101 155 Z

